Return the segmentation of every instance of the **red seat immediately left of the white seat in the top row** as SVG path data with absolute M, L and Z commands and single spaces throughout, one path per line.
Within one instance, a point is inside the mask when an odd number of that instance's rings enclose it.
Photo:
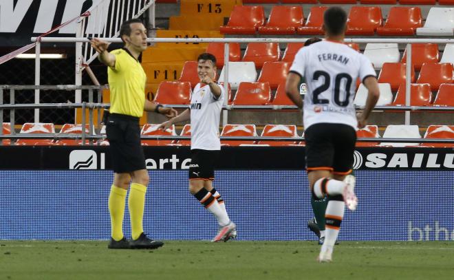
M 385 25 L 377 28 L 377 34 L 382 36 L 413 36 L 416 28 L 420 27 L 422 27 L 422 14 L 419 7 L 391 7 Z

